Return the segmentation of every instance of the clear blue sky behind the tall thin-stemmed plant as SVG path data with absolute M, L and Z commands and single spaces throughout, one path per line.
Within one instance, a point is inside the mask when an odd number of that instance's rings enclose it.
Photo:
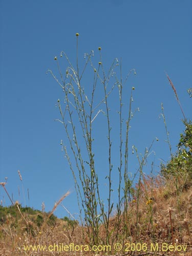
M 94 50 L 98 61 L 98 47 L 102 47 L 103 65 L 108 69 L 114 58 L 122 58 L 123 77 L 131 69 L 127 81 L 127 99 L 134 86 L 133 110 L 139 107 L 131 124 L 130 148 L 134 144 L 143 153 L 154 138 L 155 170 L 160 160 L 170 158 L 163 120 L 159 119 L 161 102 L 164 105 L 173 152 L 184 130 L 182 113 L 165 72 L 172 79 L 187 118 L 191 119 L 192 68 L 192 2 L 190 0 L 33 0 L 0 1 L 1 13 L 1 140 L 0 182 L 7 180 L 7 190 L 23 205 L 52 209 L 55 201 L 68 190 L 71 194 L 63 205 L 72 214 L 78 213 L 74 182 L 70 168 L 61 152 L 60 140 L 65 138 L 59 117 L 57 99 L 63 94 L 48 69 L 57 72 L 54 57 L 65 51 L 74 63 L 76 36 L 80 34 L 79 59 Z M 63 70 L 67 63 L 62 59 Z M 91 75 L 84 77 L 90 81 Z M 88 82 L 89 83 L 89 82 Z M 126 95 L 125 95 L 126 96 Z M 112 96 L 112 100 L 114 96 Z M 125 97 L 126 98 L 126 97 Z M 116 122 L 114 116 L 114 122 Z M 102 118 L 95 124 L 101 131 Z M 104 138 L 104 137 L 103 137 Z M 99 141 L 99 140 L 98 140 Z M 101 145 L 96 152 L 105 152 Z M 118 150 L 118 149 L 117 149 Z M 104 154 L 104 153 L 103 153 Z M 105 194 L 103 158 L 98 154 L 98 174 L 101 191 Z M 115 164 L 114 159 L 114 164 Z M 130 159 L 130 172 L 138 164 Z M 20 170 L 23 181 L 19 180 Z M 150 173 L 150 161 L 146 173 Z M 114 174 L 114 187 L 116 187 Z M 18 195 L 18 188 L 20 196 Z M 29 189 L 30 201 L 27 190 Z M 9 205 L 0 187 L 0 200 Z M 113 194 L 116 200 L 116 194 Z M 5 201 L 5 203 L 4 203 Z M 58 217 L 68 215 L 59 206 Z

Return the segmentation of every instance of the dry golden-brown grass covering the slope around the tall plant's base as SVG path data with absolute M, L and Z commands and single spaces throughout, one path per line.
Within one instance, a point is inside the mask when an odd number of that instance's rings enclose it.
M 176 186 L 177 182 L 177 186 Z M 136 188 L 137 191 L 137 188 Z M 66 196 L 66 195 L 65 195 Z M 65 198 L 65 197 L 64 197 Z M 61 200 L 59 200 L 60 202 Z M 58 205 L 58 204 L 57 204 Z M 138 207 L 139 206 L 139 207 Z M 55 206 L 54 206 L 55 207 Z M 16 208 L 19 209 L 18 205 Z M 18 210 L 18 213 L 20 211 Z M 50 217 L 50 216 L 49 216 Z M 48 217 L 48 218 L 49 218 Z M 140 184 L 139 195 L 132 200 L 129 209 L 120 218 L 126 218 L 129 230 L 127 237 L 121 225 L 118 233 L 118 241 L 114 241 L 113 227 L 116 216 L 111 218 L 109 229 L 113 245 L 118 242 L 146 243 L 149 253 L 154 255 L 192 255 L 192 187 L 184 187 L 182 180 L 166 181 L 157 176 L 155 179 L 147 177 Z M 123 221 L 122 221 L 123 223 Z M 105 242 L 105 231 L 102 224 L 99 228 L 100 244 Z M 37 227 L 31 221 L 30 216 L 21 214 L 18 226 L 13 226 L 13 217 L 7 216 L 6 223 L 1 225 L 0 231 L 0 255 L 104 255 L 105 252 L 87 251 L 25 251 L 25 246 L 34 245 L 89 245 L 90 240 L 86 229 L 80 225 L 70 227 L 63 220 L 57 219 L 52 226 L 45 219 L 41 227 Z M 150 252 L 151 243 L 187 245 L 184 251 L 155 251 Z M 57 248 L 57 247 L 55 247 Z M 59 247 L 58 247 L 59 248 Z M 117 252 L 111 250 L 107 255 L 147 255 L 146 251 Z

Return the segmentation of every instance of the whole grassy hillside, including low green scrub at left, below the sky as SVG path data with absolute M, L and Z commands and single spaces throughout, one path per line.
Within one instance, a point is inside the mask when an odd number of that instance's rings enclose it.
M 186 179 L 146 177 L 135 187 L 134 194 L 135 199 L 129 202 L 129 208 L 120 216 L 118 235 L 113 232 L 118 216 L 114 215 L 110 220 L 111 248 L 103 248 L 106 234 L 105 228 L 100 224 L 100 247 L 94 248 L 98 249 L 96 251 L 84 251 L 87 249 L 86 245 L 89 250 L 93 246 L 89 227 L 81 226 L 75 220 L 67 217 L 57 219 L 53 214 L 21 207 L 17 202 L 10 207 L 1 206 L 0 254 L 147 255 L 148 252 L 154 255 L 191 255 L 192 186 Z M 129 223 L 127 230 L 124 230 L 123 219 Z M 115 250 L 116 243 L 124 250 Z M 42 247 L 31 247 L 26 251 L 26 246 L 30 245 Z M 82 245 L 84 247 L 80 252 Z M 167 247 L 172 245 L 176 246 L 174 251 L 172 247 Z M 50 250 L 47 249 L 49 246 Z

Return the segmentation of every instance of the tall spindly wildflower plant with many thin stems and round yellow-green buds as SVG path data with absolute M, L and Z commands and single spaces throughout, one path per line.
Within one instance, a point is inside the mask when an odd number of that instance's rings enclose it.
M 57 119 L 65 130 L 67 136 L 67 143 L 61 140 L 62 151 L 68 160 L 77 193 L 78 205 L 80 209 L 81 221 L 87 227 L 87 235 L 89 242 L 93 244 L 109 244 L 118 240 L 118 230 L 121 223 L 122 209 L 124 212 L 123 225 L 124 230 L 128 230 L 126 209 L 132 197 L 132 183 L 128 172 L 128 157 L 129 157 L 129 130 L 130 121 L 134 116 L 135 111 L 132 111 L 133 92 L 134 87 L 130 88 L 130 99 L 128 99 L 126 121 L 123 120 L 123 106 L 122 100 L 123 89 L 129 76 L 133 73 L 136 75 L 135 69 L 132 69 L 125 79 L 122 78 L 122 65 L 118 59 L 115 58 L 111 67 L 106 72 L 101 54 L 101 47 L 98 48 L 99 62 L 94 64 L 94 52 L 84 54 L 84 67 L 80 67 L 78 58 L 78 38 L 76 34 L 76 65 L 74 66 L 65 52 L 61 52 L 60 57 L 65 56 L 68 67 L 65 74 L 61 72 L 59 61 L 55 57 L 57 63 L 59 78 L 49 70 L 53 78 L 59 84 L 63 91 L 64 99 L 58 99 L 58 109 L 60 112 L 60 119 Z M 84 76 L 92 75 L 92 81 L 87 81 Z M 86 78 L 87 79 L 87 78 Z M 84 86 L 84 84 L 86 86 Z M 99 93 L 98 93 L 99 88 Z M 113 159 L 112 140 L 114 134 L 112 133 L 112 120 L 114 113 L 111 111 L 112 102 L 110 96 L 115 93 L 119 101 L 118 116 L 119 116 L 119 148 Z M 98 100 L 98 95 L 100 99 Z M 116 113 L 115 113 L 116 114 Z M 107 144 L 106 152 L 108 152 L 108 173 L 105 179 L 108 181 L 107 203 L 101 198 L 99 179 L 97 171 L 97 161 L 95 157 L 95 137 L 94 128 L 97 120 L 104 116 L 104 123 L 102 123 L 102 131 L 106 131 Z M 78 126 L 77 126 L 78 124 Z M 104 130 L 105 127 L 105 130 Z M 117 137 L 117 133 L 115 134 Z M 67 147 L 68 144 L 68 147 Z M 116 167 L 113 163 L 119 161 Z M 142 165 L 142 164 L 141 164 Z M 112 174 L 117 172 L 118 175 L 118 200 L 116 207 L 112 201 Z M 141 170 L 140 170 L 141 172 Z M 110 218 L 116 213 L 115 225 L 113 229 L 110 227 Z M 99 228 L 102 223 L 104 228 L 104 239 L 99 236 Z M 85 234 L 86 235 L 86 234 Z

